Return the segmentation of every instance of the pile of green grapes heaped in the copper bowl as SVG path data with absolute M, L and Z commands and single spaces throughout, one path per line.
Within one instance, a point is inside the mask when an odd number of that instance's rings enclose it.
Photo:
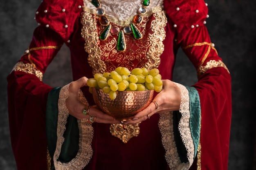
M 103 74 L 97 73 L 94 78 L 87 81 L 92 93 L 92 88 L 101 88 L 109 94 L 110 99 L 117 97 L 117 91 L 145 91 L 155 90 L 160 92 L 163 87 L 162 76 L 157 68 L 148 71 L 147 68 L 134 68 L 129 71 L 126 67 L 117 67 L 115 71 Z

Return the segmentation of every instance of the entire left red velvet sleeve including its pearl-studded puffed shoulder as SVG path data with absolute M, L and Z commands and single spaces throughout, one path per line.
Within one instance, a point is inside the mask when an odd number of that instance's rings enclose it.
M 36 13 L 40 26 L 35 29 L 26 53 L 7 77 L 11 144 L 18 170 L 47 170 L 45 112 L 52 87 L 40 79 L 63 42 L 68 43 L 72 36 L 72 25 L 77 21 L 74 18 L 79 18 L 81 9 L 77 1 L 66 2 L 42 2 Z M 69 23 L 67 28 L 66 23 Z

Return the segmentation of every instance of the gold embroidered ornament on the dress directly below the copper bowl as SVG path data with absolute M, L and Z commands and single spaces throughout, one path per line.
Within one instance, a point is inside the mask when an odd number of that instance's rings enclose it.
M 110 133 L 126 144 L 132 137 L 139 135 L 139 124 L 111 124 Z

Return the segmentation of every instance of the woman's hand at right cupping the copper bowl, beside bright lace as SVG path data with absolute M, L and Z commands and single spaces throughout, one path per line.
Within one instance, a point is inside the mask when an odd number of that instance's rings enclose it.
M 125 121 L 124 124 L 135 124 L 144 121 L 155 113 L 165 113 L 169 111 L 179 110 L 181 102 L 180 88 L 174 82 L 163 79 L 163 88 L 153 99 L 159 105 L 157 108 L 155 102 L 151 102 L 141 112 L 137 113 L 132 120 Z

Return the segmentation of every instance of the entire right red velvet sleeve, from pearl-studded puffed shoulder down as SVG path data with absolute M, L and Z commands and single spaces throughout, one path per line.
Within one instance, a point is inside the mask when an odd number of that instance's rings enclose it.
M 168 24 L 176 29 L 175 43 L 198 72 L 198 83 L 193 87 L 200 96 L 201 130 L 195 164 L 202 170 L 227 170 L 231 77 L 205 26 L 207 4 L 203 0 L 164 0 L 164 7 L 171 18 Z

